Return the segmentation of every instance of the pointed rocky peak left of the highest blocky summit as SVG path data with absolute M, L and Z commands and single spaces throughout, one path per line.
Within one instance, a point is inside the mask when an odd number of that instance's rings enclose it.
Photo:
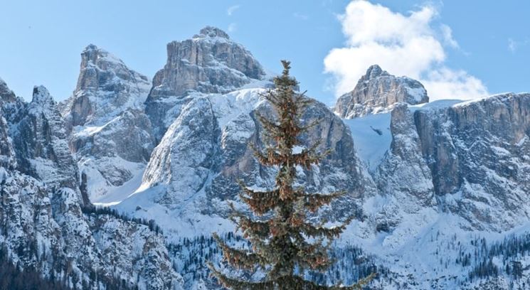
M 88 45 L 81 53 L 78 85 L 62 107 L 92 202 L 128 194 L 123 186 L 134 187 L 149 160 L 154 139 L 143 104 L 149 87 L 147 77 L 106 50 Z

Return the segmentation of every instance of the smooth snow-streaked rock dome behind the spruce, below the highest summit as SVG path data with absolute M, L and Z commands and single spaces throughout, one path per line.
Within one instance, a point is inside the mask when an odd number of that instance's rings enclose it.
M 260 98 L 265 92 L 191 95 L 154 149 L 141 190 L 117 208 L 141 218 L 155 217 L 172 232 L 170 237 L 208 231 L 214 221 L 230 229 L 227 201 L 238 203 L 238 179 L 256 188 L 274 186 L 275 170 L 260 166 L 248 146 L 263 144 L 255 112 L 273 117 L 270 105 Z M 375 186 L 356 159 L 349 130 L 319 102 L 302 119 L 307 124 L 322 119 L 302 137 L 304 146 L 322 139 L 320 149 L 332 148 L 334 153 L 312 171 L 300 168 L 297 182 L 312 192 L 347 190 L 349 195 L 333 206 L 332 214 L 360 215 L 358 201 Z

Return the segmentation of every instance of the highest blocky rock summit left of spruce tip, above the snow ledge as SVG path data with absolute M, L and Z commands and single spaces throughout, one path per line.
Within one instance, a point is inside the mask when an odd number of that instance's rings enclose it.
M 231 92 L 263 77 L 258 60 L 219 28 L 206 26 L 191 39 L 168 43 L 166 65 L 154 76 L 146 102 L 157 139 L 191 92 Z

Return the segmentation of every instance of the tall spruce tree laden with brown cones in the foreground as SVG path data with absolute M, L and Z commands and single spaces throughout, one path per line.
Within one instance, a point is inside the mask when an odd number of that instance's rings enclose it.
M 329 258 L 329 244 L 344 231 L 346 223 L 335 227 L 315 225 L 308 221 L 309 213 L 315 213 L 322 205 L 327 205 L 343 193 L 305 193 L 304 188 L 293 185 L 296 166 L 307 170 L 318 164 L 328 153 L 317 152 L 317 144 L 295 153 L 300 146 L 300 134 L 315 122 L 302 126 L 300 118 L 304 108 L 312 102 L 304 94 L 295 92 L 298 82 L 290 77 L 290 62 L 282 60 L 283 73 L 275 77 L 275 90 L 269 90 L 264 97 L 272 104 L 277 119 L 267 119 L 256 113 L 265 129 L 265 139 L 271 143 L 264 151 L 254 149 L 258 161 L 263 166 L 277 166 L 275 188 L 268 191 L 250 189 L 240 183 L 243 200 L 253 215 L 235 210 L 232 220 L 250 241 L 251 249 L 230 247 L 216 234 L 223 257 L 233 269 L 254 271 L 261 269 L 265 278 L 261 281 L 237 279 L 223 274 L 208 264 L 213 276 L 228 289 L 361 289 L 369 279 L 353 286 L 324 286 L 305 280 L 301 275 L 305 270 L 324 271 L 332 264 Z

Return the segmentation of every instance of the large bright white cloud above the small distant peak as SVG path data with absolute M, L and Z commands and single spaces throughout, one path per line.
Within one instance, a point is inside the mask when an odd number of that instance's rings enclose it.
M 339 16 L 346 47 L 334 48 L 324 58 L 324 71 L 334 75 L 336 96 L 353 90 L 373 64 L 393 75 L 420 80 L 431 100 L 487 95 L 476 77 L 444 65 L 444 47 L 459 46 L 449 26 L 433 24 L 437 16 L 433 6 L 403 15 L 369 1 L 351 1 Z

